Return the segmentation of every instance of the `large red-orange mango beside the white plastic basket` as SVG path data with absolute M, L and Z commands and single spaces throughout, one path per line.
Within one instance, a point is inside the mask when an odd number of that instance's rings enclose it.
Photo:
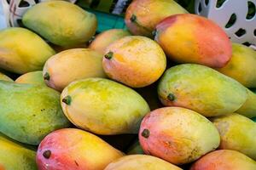
M 177 63 L 224 67 L 232 54 L 231 42 L 212 20 L 195 14 L 175 14 L 156 26 L 154 39 Z

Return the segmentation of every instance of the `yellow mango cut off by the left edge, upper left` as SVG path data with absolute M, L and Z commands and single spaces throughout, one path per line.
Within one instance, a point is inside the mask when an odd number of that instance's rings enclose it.
M 53 54 L 55 51 L 32 31 L 20 27 L 0 31 L 0 67 L 6 71 L 40 71 Z

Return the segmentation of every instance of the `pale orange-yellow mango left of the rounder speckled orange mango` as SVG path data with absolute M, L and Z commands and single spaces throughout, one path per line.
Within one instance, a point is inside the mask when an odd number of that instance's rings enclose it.
M 62 91 L 70 82 L 88 77 L 106 77 L 102 68 L 103 55 L 89 48 L 62 51 L 49 58 L 43 70 L 50 88 Z

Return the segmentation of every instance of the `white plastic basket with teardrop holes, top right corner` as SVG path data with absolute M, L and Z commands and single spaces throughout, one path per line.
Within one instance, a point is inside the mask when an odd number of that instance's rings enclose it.
M 249 10 L 250 8 L 250 10 Z M 214 20 L 232 42 L 256 45 L 256 0 L 195 0 L 195 14 Z

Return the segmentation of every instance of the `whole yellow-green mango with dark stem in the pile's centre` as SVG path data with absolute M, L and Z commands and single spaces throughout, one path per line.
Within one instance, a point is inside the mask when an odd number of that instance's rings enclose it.
M 103 135 L 137 133 L 149 112 L 137 92 L 104 78 L 70 83 L 61 93 L 61 106 L 74 125 Z

